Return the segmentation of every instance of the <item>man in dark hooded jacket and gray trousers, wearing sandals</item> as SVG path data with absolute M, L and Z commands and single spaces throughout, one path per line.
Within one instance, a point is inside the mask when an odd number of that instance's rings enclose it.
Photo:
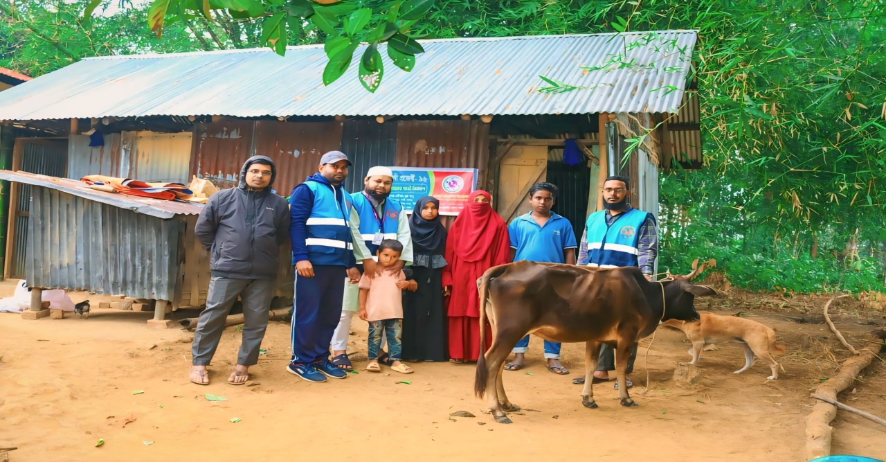
M 206 366 L 218 348 L 225 318 L 240 296 L 243 341 L 228 383 L 243 385 L 249 366 L 259 362 L 259 347 L 268 327 L 268 310 L 276 292 L 280 246 L 289 239 L 289 207 L 271 190 L 274 162 L 253 156 L 240 170 L 240 184 L 217 192 L 206 202 L 195 233 L 210 255 L 209 292 L 191 346 L 190 381 L 207 385 Z

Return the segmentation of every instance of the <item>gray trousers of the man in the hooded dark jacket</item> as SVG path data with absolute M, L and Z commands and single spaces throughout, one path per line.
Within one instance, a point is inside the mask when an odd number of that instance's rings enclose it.
M 209 279 L 206 309 L 200 313 L 197 332 L 190 353 L 194 365 L 209 365 L 215 355 L 224 331 L 225 319 L 237 295 L 243 299 L 243 341 L 237 364 L 253 365 L 259 362 L 261 340 L 268 329 L 268 311 L 274 298 L 276 281 L 273 279 L 233 279 L 213 276 Z

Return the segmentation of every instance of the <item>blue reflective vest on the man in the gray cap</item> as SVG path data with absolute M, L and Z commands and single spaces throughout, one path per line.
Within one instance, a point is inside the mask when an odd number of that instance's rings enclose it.
M 314 192 L 314 208 L 311 208 L 306 223 L 307 259 L 314 264 L 347 265 L 348 254 L 354 252 L 351 229 L 347 224 L 352 207 L 350 196 L 340 188 L 342 197 L 336 200 L 336 193 L 329 184 L 315 181 L 305 184 Z

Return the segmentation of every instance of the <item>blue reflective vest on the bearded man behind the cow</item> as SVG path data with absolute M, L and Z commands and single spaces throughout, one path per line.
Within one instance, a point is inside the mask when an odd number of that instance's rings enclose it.
M 615 221 L 606 225 L 607 210 L 600 210 L 587 217 L 587 264 L 602 268 L 637 266 L 640 253 L 637 243 L 647 212 L 632 208 L 618 214 Z M 654 219 L 654 218 L 653 218 Z

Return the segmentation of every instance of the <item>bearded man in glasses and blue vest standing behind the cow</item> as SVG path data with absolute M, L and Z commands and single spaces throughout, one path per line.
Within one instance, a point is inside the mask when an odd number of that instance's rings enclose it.
M 631 207 L 631 184 L 625 176 L 610 176 L 603 183 L 603 210 L 587 217 L 585 232 L 579 244 L 579 266 L 595 268 L 618 268 L 639 266 L 648 280 L 655 273 L 658 256 L 658 227 L 655 217 Z M 633 360 L 637 356 L 637 344 L 627 358 L 627 373 L 633 372 Z M 620 360 L 620 358 L 619 358 Z M 614 380 L 609 372 L 615 371 L 615 355 L 612 347 L 603 344 L 600 361 L 594 372 L 594 383 Z M 583 385 L 584 377 L 572 383 Z M 627 387 L 633 387 L 630 379 Z M 618 382 L 615 384 L 618 389 Z

